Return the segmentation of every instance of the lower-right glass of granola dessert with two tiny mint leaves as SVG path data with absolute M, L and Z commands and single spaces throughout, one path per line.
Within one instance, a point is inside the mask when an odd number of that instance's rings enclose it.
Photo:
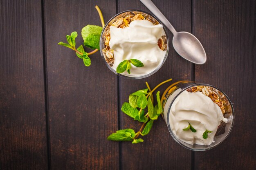
M 209 84 L 180 81 L 162 96 L 164 120 L 173 139 L 190 150 L 209 150 L 229 135 L 234 108 L 227 95 Z

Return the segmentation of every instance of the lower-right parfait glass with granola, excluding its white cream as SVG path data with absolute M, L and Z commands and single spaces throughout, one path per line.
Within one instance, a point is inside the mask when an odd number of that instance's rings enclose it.
M 175 133 L 172 131 L 172 127 L 170 125 L 170 110 L 173 105 L 174 100 L 183 92 L 183 91 L 190 91 L 193 89 L 193 87 L 196 86 L 206 86 L 211 88 L 212 91 L 215 91 L 219 98 L 223 101 L 223 105 L 225 106 L 225 113 L 224 117 L 228 119 L 227 123 L 222 122 L 220 126 L 218 126 L 218 130 L 216 132 L 216 135 L 214 136 L 214 143 L 212 143 L 209 146 L 206 145 L 198 145 L 198 144 L 187 144 L 184 141 L 178 139 L 175 136 Z M 218 146 L 222 141 L 224 141 L 229 133 L 231 132 L 231 129 L 234 125 L 234 108 L 232 106 L 232 103 L 230 99 L 227 97 L 227 95 L 220 90 L 219 88 L 212 86 L 210 84 L 203 84 L 203 83 L 197 83 L 197 82 L 191 82 L 191 81 L 180 81 L 172 84 L 166 90 L 164 91 L 162 95 L 162 108 L 163 108 L 163 115 L 164 120 L 166 122 L 166 125 L 168 127 L 169 132 L 171 133 L 171 136 L 173 139 L 180 144 L 181 146 L 189 149 L 189 150 L 195 150 L 195 151 L 203 151 L 203 150 L 209 150 L 216 146 Z

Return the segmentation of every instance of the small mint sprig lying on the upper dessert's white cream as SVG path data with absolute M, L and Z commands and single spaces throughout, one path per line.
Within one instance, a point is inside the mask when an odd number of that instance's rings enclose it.
M 117 73 L 124 73 L 127 71 L 128 74 L 130 74 L 131 64 L 136 67 L 143 67 L 144 64 L 137 60 L 137 59 L 130 59 L 130 60 L 124 60 L 120 62 L 117 66 Z

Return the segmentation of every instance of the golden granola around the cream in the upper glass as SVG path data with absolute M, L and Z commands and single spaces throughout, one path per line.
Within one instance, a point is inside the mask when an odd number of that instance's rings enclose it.
M 122 13 L 118 15 L 116 18 L 114 18 L 112 21 L 110 21 L 106 26 L 106 29 L 104 30 L 103 36 L 102 36 L 103 38 L 102 42 L 104 43 L 102 44 L 103 45 L 102 52 L 105 57 L 105 60 L 108 62 L 110 66 L 113 66 L 114 60 L 115 60 L 114 51 L 110 49 L 110 46 L 109 46 L 109 41 L 111 38 L 110 26 L 116 26 L 117 28 L 126 28 L 130 25 L 130 22 L 132 22 L 133 20 L 148 20 L 154 25 L 159 24 L 159 22 L 157 22 L 157 20 L 155 20 L 152 16 L 139 11 Z M 161 38 L 159 38 L 157 45 L 162 51 L 166 51 L 167 49 L 166 35 L 163 35 Z

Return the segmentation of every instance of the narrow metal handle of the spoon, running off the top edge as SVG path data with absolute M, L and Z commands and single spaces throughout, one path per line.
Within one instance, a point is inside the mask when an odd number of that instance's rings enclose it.
M 165 26 L 173 33 L 176 34 L 176 30 L 173 28 L 172 24 L 165 18 L 162 12 L 153 4 L 151 0 L 140 0 L 160 21 L 162 21 Z

